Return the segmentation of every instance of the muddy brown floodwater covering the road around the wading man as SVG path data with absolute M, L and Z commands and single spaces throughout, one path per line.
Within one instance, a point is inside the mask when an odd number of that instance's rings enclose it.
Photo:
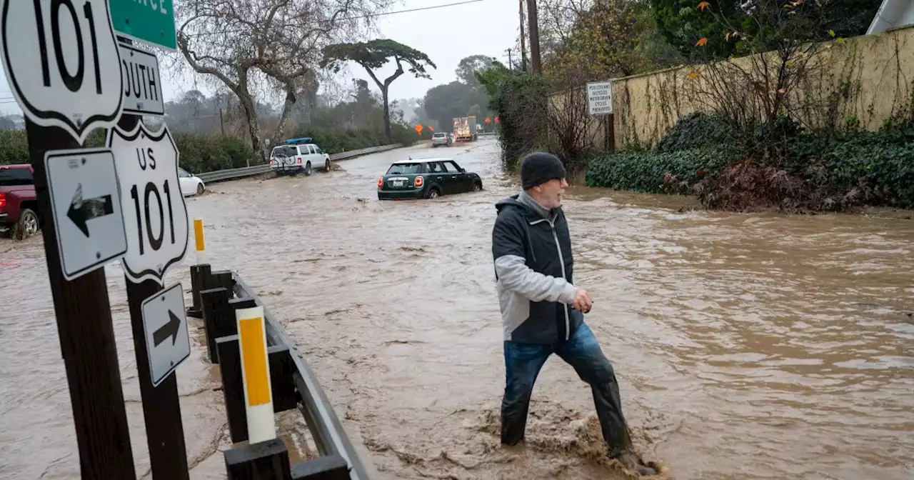
M 188 208 L 214 266 L 237 270 L 297 340 L 375 477 L 621 478 L 590 389 L 555 357 L 526 444 L 498 443 L 491 228 L 516 188 L 498 154 L 490 139 L 401 149 L 214 185 Z M 485 190 L 378 202 L 377 176 L 408 155 L 450 155 Z M 576 279 L 595 299 L 587 322 L 647 459 L 679 479 L 914 477 L 909 215 L 681 213 L 689 200 L 582 187 L 565 204 Z M 0 263 L 0 476 L 78 476 L 40 240 L 0 242 Z M 142 429 L 122 277 L 107 268 Z M 172 281 L 189 285 L 184 270 Z M 193 476 L 219 478 L 225 417 L 200 352 L 178 369 L 185 432 Z

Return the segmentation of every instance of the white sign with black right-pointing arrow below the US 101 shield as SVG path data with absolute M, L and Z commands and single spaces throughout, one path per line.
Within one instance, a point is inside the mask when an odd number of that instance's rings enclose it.
M 190 355 L 181 283 L 143 300 L 143 331 L 149 375 L 158 387 Z

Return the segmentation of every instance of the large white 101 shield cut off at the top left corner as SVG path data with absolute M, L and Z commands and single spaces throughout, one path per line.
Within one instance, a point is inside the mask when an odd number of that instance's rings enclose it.
M 82 144 L 121 118 L 121 58 L 108 0 L 2 0 L 10 90 L 29 120 Z

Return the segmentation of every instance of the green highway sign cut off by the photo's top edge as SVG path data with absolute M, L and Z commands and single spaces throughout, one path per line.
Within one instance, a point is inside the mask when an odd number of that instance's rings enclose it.
M 157 47 L 175 50 L 175 0 L 108 0 L 114 31 Z

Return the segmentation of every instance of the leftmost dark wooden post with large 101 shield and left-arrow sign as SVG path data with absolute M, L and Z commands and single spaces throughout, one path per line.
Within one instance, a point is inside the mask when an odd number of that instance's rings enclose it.
M 78 151 L 121 116 L 122 77 L 106 0 L 0 0 L 3 68 L 26 116 L 37 213 L 80 477 L 135 479 L 117 342 L 102 268 L 123 252 L 110 152 Z M 108 238 L 108 236 L 111 238 Z

